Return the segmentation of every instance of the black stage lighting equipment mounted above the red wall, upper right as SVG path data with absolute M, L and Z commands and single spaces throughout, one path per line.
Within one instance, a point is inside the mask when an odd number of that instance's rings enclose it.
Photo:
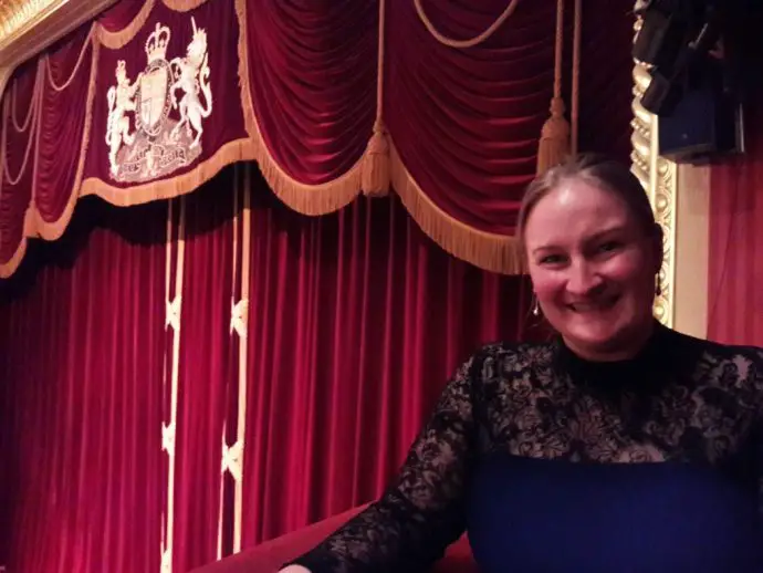
M 660 154 L 701 163 L 742 152 L 744 76 L 741 39 L 760 0 L 641 0 L 633 55 L 651 81 L 641 105 L 660 117 Z M 755 31 L 754 33 L 759 33 Z M 746 64 L 743 67 L 748 67 Z

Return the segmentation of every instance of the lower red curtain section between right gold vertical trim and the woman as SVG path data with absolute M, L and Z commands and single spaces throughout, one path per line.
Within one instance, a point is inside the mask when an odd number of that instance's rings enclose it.
M 378 494 L 456 365 L 527 335 L 531 299 L 395 199 L 307 219 L 255 185 L 244 546 Z

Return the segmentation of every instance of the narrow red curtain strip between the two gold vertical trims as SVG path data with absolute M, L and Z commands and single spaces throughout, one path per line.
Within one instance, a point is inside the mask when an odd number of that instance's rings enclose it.
M 174 570 L 217 559 L 222 437 L 236 392 L 234 170 L 185 199 L 185 263 L 175 461 Z M 222 191 L 222 192 L 221 192 Z

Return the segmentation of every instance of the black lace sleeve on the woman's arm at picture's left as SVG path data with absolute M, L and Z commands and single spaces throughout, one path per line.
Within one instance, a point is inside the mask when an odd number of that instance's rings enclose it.
M 313 573 L 403 573 L 443 554 L 464 529 L 477 371 L 477 357 L 458 369 L 382 499 L 293 563 Z

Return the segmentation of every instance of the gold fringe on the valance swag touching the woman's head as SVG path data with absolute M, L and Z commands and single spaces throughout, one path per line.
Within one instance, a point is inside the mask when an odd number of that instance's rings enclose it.
M 480 231 L 445 212 L 410 176 L 394 142 L 389 147 L 393 187 L 426 235 L 453 257 L 487 271 L 524 273 L 522 251 L 514 237 Z

